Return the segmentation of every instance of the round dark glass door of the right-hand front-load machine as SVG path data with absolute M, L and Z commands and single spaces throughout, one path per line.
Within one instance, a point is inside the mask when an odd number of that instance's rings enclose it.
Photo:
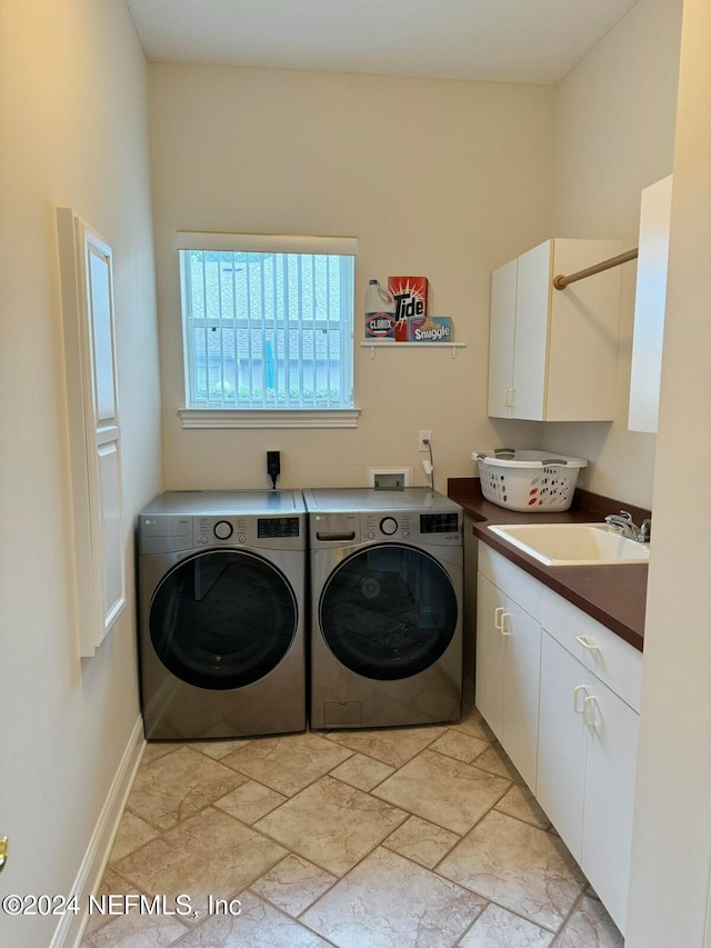
M 342 665 L 365 678 L 393 681 L 424 671 L 444 653 L 457 629 L 457 596 L 429 553 L 383 543 L 336 567 L 319 619 Z

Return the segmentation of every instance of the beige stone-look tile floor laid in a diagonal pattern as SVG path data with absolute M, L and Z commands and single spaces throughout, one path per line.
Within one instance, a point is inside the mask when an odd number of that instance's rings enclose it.
M 148 745 L 101 894 L 167 911 L 83 948 L 623 945 L 471 692 L 451 727 Z

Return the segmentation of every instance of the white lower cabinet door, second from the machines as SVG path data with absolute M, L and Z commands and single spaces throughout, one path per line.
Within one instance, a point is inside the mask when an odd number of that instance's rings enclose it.
M 534 789 L 541 627 L 509 598 L 502 623 L 505 641 L 502 744 L 521 777 Z

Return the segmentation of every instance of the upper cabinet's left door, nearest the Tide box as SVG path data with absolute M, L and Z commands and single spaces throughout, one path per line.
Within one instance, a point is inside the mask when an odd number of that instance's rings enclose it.
M 511 260 L 491 275 L 488 400 L 491 418 L 511 417 L 517 270 L 518 261 Z

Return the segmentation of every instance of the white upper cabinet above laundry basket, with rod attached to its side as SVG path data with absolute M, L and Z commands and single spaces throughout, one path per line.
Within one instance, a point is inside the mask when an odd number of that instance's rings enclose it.
M 489 416 L 610 421 L 620 313 L 618 268 L 553 289 L 553 278 L 620 252 L 614 240 L 547 240 L 491 278 Z

